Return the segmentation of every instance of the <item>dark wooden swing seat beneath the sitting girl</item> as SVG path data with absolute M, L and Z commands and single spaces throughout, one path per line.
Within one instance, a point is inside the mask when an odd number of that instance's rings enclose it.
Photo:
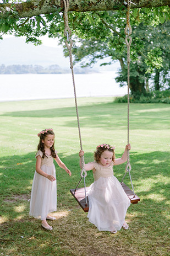
M 130 188 L 128 188 L 127 185 L 122 183 L 122 187 L 127 194 L 128 198 L 130 199 L 131 204 L 138 204 L 140 201 L 140 198 L 135 194 L 133 195 L 133 191 L 131 191 Z M 87 204 L 85 202 L 85 191 L 84 188 L 78 188 L 76 189 L 70 189 L 70 193 L 74 196 L 75 200 L 78 202 L 78 204 L 81 206 L 81 208 L 84 210 L 84 212 L 89 211 L 89 199 L 88 199 L 88 189 L 89 186 L 86 187 L 86 200 Z

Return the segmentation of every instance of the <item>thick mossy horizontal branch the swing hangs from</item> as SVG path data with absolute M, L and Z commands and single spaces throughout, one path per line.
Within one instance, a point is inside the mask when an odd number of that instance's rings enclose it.
M 89 12 L 94 10 L 118 10 L 122 6 L 127 7 L 123 0 L 69 0 L 69 11 Z M 151 8 L 170 6 L 170 0 L 131 0 L 131 8 Z M 63 0 L 30 0 L 19 4 L 0 3 L 0 18 L 6 18 L 13 11 L 20 18 L 31 18 L 35 15 L 55 13 L 56 8 L 63 11 Z

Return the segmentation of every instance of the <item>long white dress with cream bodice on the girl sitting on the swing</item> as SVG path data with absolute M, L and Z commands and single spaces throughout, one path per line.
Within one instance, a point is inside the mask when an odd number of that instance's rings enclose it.
M 94 166 L 95 181 L 88 189 L 87 217 L 99 231 L 118 231 L 123 226 L 130 200 L 113 175 L 113 162 L 109 167 L 96 162 Z

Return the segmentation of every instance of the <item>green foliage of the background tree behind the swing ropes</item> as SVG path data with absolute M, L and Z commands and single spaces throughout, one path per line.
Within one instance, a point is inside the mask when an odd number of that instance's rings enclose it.
M 164 9 L 166 13 L 166 9 Z M 73 15 L 73 16 L 71 16 Z M 75 35 L 73 54 L 82 66 L 91 66 L 98 59 L 111 57 L 109 63 L 119 60 L 122 70 L 117 81 L 127 82 L 127 46 L 124 28 L 125 11 L 93 12 L 88 15 L 70 14 L 70 25 Z M 133 94 L 145 94 L 149 78 L 155 75 L 156 89 L 168 84 L 169 74 L 169 19 L 160 23 L 155 11 L 131 10 L 133 43 L 131 44 L 130 89 Z M 60 24 L 62 26 L 62 24 Z M 61 43 L 62 40 L 61 40 Z M 65 51 L 67 53 L 67 51 Z M 103 63 L 102 65 L 108 65 Z M 158 76 L 157 76 L 158 74 Z M 161 81 L 162 80 L 162 81 Z M 160 84 L 162 82 L 162 84 Z

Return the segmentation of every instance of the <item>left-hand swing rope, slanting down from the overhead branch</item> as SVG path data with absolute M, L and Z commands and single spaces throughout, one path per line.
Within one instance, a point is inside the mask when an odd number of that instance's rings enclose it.
M 72 70 L 72 79 L 73 79 L 73 88 L 74 88 L 74 100 L 75 100 L 75 108 L 76 108 L 76 117 L 77 117 L 77 122 L 78 122 L 78 129 L 79 129 L 79 140 L 80 140 L 80 148 L 81 150 L 83 150 L 83 146 L 82 146 L 82 141 L 81 141 L 81 132 L 80 132 L 80 122 L 79 122 L 79 113 L 78 113 L 78 104 L 77 104 L 77 100 L 76 100 L 76 90 L 75 90 L 75 79 L 74 79 L 74 71 L 73 71 L 73 57 L 72 57 L 72 46 L 73 46 L 73 41 L 70 38 L 70 36 L 72 35 L 72 31 L 69 28 L 69 24 L 68 24 L 68 9 L 69 9 L 69 0 L 63 0 L 64 2 L 64 24 L 65 24 L 65 28 L 64 28 L 64 35 L 67 38 L 67 40 L 65 40 L 65 45 L 67 46 L 67 49 L 69 51 L 69 58 L 70 58 L 70 68 Z M 85 178 L 87 176 L 87 172 L 84 168 L 84 156 L 81 156 L 81 178 Z M 84 183 L 85 183 L 85 179 L 84 179 Z

